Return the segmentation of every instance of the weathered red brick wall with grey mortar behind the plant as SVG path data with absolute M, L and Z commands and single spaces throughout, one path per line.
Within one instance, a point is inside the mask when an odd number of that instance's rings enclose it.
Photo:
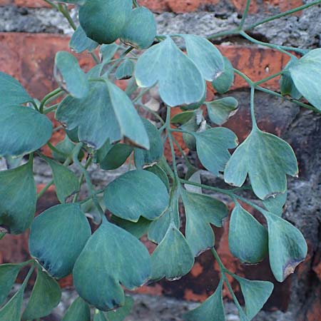
M 186 33 L 210 34 L 220 29 L 235 26 L 240 19 L 244 0 L 141 0 L 140 4 L 148 6 L 156 13 L 159 32 L 173 30 Z M 250 21 L 256 21 L 262 16 L 285 11 L 303 4 L 302 0 L 253 0 L 250 7 Z M 64 29 L 46 28 L 49 26 L 44 18 L 57 18 L 54 11 L 48 8 L 42 0 L 0 0 L 0 31 L 7 31 L 8 21 L 11 31 L 0 32 L 0 70 L 11 74 L 21 81 L 29 93 L 36 98 L 42 98 L 48 91 L 55 88 L 53 78 L 53 63 L 56 51 L 68 50 L 69 36 L 57 34 Z M 235 12 L 237 14 L 235 14 Z M 18 14 L 16 14 L 18 13 Z M 12 14 L 12 16 L 10 16 Z M 254 36 L 265 41 L 292 46 L 319 46 L 321 34 L 321 9 L 312 9 L 299 13 L 276 24 L 267 24 L 258 28 Z M 29 19 L 34 24 L 41 21 L 44 30 L 32 29 L 21 24 L 21 19 Z M 2 20 L 1 20 L 2 19 Z M 43 20 L 41 20 L 43 19 Z M 49 19 L 49 18 L 48 18 Z M 16 28 L 12 30 L 12 26 Z M 55 20 L 60 21 L 60 20 Z M 310 21 L 310 24 L 307 24 Z M 320 22 L 320 24 L 318 24 Z M 61 23 L 62 19 L 61 19 Z M 311 24 L 315 27 L 311 29 Z M 320 27 L 318 27 L 320 25 Z M 30 32 L 19 32 L 29 31 Z M 296 30 L 295 32 L 293 30 Z M 62 31 L 61 31 L 62 30 Z M 39 33 L 37 31 L 46 31 Z M 318 38 L 319 37 L 319 38 Z M 231 37 L 224 39 L 218 48 L 233 63 L 235 68 L 246 73 L 253 80 L 260 80 L 269 74 L 280 71 L 288 61 L 287 56 L 278 51 L 258 48 L 245 44 L 241 39 Z M 92 66 L 91 57 L 86 54 L 77 55 L 81 66 L 86 70 Z M 265 84 L 267 88 L 277 90 L 278 80 Z M 237 133 L 242 141 L 250 131 L 250 116 L 248 112 L 248 88 L 239 77 L 235 78 L 232 88 L 233 96 L 240 101 L 238 116 L 231 118 L 227 126 Z M 212 97 L 215 93 L 209 93 Z M 321 315 L 321 250 L 320 250 L 320 117 L 297 108 L 297 106 L 277 98 L 258 93 L 258 123 L 263 130 L 282 136 L 297 152 L 300 163 L 300 179 L 290 180 L 289 200 L 285 217 L 302 230 L 309 245 L 309 255 L 305 263 L 297 269 L 284 283 L 274 281 L 267 261 L 255 267 L 240 265 L 228 250 L 228 226 L 215 229 L 216 247 L 223 263 L 230 270 L 249 278 L 271 280 L 275 282 L 275 292 L 265 305 L 270 311 L 268 320 L 273 319 L 275 310 L 292 313 L 291 320 L 320 321 Z M 174 111 L 175 113 L 175 111 Z M 180 137 L 178 137 L 180 139 Z M 61 140 L 61 133 L 56 133 L 54 141 Z M 178 160 L 180 162 L 180 160 Z M 37 173 L 41 169 L 36 169 Z M 41 173 L 39 175 L 41 183 Z M 205 178 L 208 183 L 218 183 L 213 178 Z M 102 180 L 103 181 L 103 180 Z M 42 182 L 44 183 L 44 182 Z M 99 183 L 99 182 L 98 182 Z M 101 183 L 101 182 L 100 182 Z M 39 188 L 41 186 L 39 185 Z M 54 190 L 49 191 L 39 202 L 39 212 L 56 203 Z M 258 215 L 258 213 L 254 213 Z M 0 263 L 19 262 L 28 257 L 26 244 L 27 235 L 8 235 L 1 240 Z M 198 258 L 195 267 L 189 275 L 178 282 L 161 281 L 150 287 L 143 287 L 140 292 L 154 295 L 172 295 L 184 300 L 204 300 L 210 295 L 218 282 L 218 266 L 210 253 L 204 253 Z M 70 279 L 61 281 L 62 285 L 71 285 Z M 237 283 L 233 287 L 238 291 Z M 228 298 L 228 292 L 225 291 Z M 239 295 L 240 293 L 238 293 Z M 278 314 L 280 315 L 280 314 Z M 257 320 L 263 320 L 258 318 Z M 290 320 L 287 314 L 285 320 Z

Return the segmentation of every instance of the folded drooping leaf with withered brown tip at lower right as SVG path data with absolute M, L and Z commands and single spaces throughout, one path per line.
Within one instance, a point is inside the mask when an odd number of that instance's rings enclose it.
M 270 267 L 279 282 L 295 271 L 307 256 L 307 243 L 300 230 L 277 215 L 264 212 L 269 234 Z

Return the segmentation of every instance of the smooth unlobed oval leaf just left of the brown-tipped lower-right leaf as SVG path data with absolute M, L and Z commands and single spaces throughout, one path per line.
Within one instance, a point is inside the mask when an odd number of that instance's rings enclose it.
M 267 255 L 267 230 L 238 203 L 230 217 L 228 245 L 242 263 L 258 263 Z

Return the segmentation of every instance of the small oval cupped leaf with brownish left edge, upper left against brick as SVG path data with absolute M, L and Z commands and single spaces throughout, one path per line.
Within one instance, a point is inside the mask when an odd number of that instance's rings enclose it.
M 55 58 L 55 78 L 62 88 L 75 98 L 88 95 L 89 83 L 77 59 L 67 51 L 58 51 Z

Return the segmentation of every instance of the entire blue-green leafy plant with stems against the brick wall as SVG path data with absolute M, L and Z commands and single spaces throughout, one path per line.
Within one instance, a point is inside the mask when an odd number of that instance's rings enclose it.
M 225 225 L 229 228 L 230 252 L 241 263 L 250 264 L 260 263 L 268 254 L 279 282 L 305 259 L 307 244 L 302 233 L 282 218 L 287 175 L 297 176 L 297 160 L 288 143 L 258 128 L 255 91 L 283 96 L 302 108 L 321 111 L 321 49 L 307 52 L 256 41 L 243 28 L 248 14 L 245 9 L 238 29 L 213 38 L 243 36 L 291 58 L 283 71 L 254 82 L 220 54 L 210 41 L 212 36 L 157 35 L 153 14 L 136 1 L 62 2 L 79 8 L 81 26 L 76 28 L 68 6 L 52 4 L 75 29 L 71 50 L 88 51 L 96 66 L 85 73 L 75 56 L 58 52 L 55 76 L 59 87 L 41 101 L 31 98 L 16 79 L 0 72 L 0 157 L 8 167 L 0 171 L 0 240 L 9 233 L 24 233 L 31 226 L 31 260 L 0 265 L 0 320 L 49 315 L 61 298 L 55 279 L 72 273 L 79 297 L 63 321 L 91 321 L 90 305 L 96 308 L 93 320 L 122 321 L 133 307 L 124 290 L 163 277 L 177 280 L 206 250 L 213 253 L 220 268 L 220 282 L 208 300 L 185 315 L 185 321 L 224 321 L 223 285 L 233 297 L 240 320 L 252 320 L 270 297 L 272 283 L 246 280 L 230 272 L 215 250 L 212 225 L 223 226 L 223 220 L 228 220 L 226 204 L 233 203 L 229 224 Z M 250 6 L 250 0 L 247 4 Z M 308 6 L 312 4 L 291 12 Z M 287 14 L 289 11 L 281 16 Z M 116 44 L 117 39 L 121 41 Z M 223 94 L 233 86 L 235 73 L 251 90 L 253 129 L 240 146 L 233 131 L 220 127 L 238 111 L 238 101 L 228 94 L 206 101 L 206 81 Z M 260 86 L 277 76 L 281 76 L 281 94 Z M 120 79 L 129 79 L 121 82 L 123 90 L 115 84 Z M 147 103 L 149 99 L 153 102 L 157 91 L 162 106 L 159 110 Z M 58 97 L 63 98 L 60 103 Z M 172 117 L 175 110 L 171 107 L 175 106 L 183 112 Z M 66 133 L 56 146 L 48 143 L 53 126 L 47 114 L 53 112 L 61 123 L 54 131 Z M 153 121 L 142 117 L 146 114 Z M 183 134 L 191 155 L 183 150 L 180 136 L 173 136 L 175 132 Z M 52 158 L 42 152 L 45 145 L 51 148 Z M 170 161 L 165 158 L 168 151 Z M 180 156 L 183 165 L 181 160 L 178 164 Z M 52 180 L 38 195 L 35 157 L 44 159 L 52 172 Z M 88 170 L 91 163 L 101 170 L 121 168 L 126 173 L 98 190 Z M 206 176 L 200 169 L 217 176 L 215 182 L 225 180 L 235 188 L 204 184 Z M 248 185 L 244 185 L 247 177 Z M 83 183 L 86 189 L 81 188 Z M 34 218 L 37 198 L 51 185 L 61 205 Z M 80 190 L 86 190 L 86 195 Z M 206 195 L 205 190 L 215 195 Z M 252 197 L 257 196 L 260 203 L 248 200 L 245 190 L 253 192 Z M 243 204 L 263 214 L 262 221 L 259 223 Z M 88 220 L 99 225 L 93 228 L 94 233 Z M 157 244 L 151 255 L 139 240 L 146 240 L 146 236 Z M 21 267 L 26 265 L 31 268 L 23 285 L 6 300 Z M 36 284 L 21 316 L 24 290 L 35 266 Z M 227 275 L 240 284 L 245 307 L 240 306 Z

